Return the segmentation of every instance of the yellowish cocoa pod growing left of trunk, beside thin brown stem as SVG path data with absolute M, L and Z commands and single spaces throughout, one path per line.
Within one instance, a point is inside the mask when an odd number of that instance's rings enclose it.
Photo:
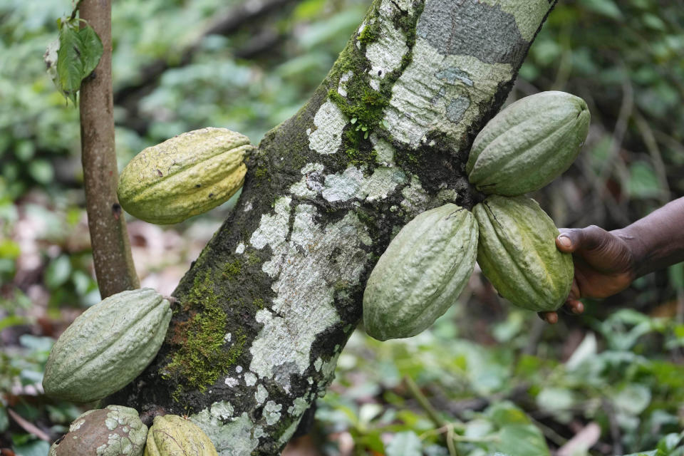
M 249 138 L 202 128 L 142 150 L 119 177 L 121 207 L 145 222 L 171 224 L 226 202 L 244 182 Z

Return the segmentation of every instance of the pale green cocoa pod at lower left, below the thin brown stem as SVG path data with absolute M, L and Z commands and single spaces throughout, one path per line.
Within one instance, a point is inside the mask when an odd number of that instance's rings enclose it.
M 169 301 L 148 288 L 123 291 L 90 307 L 53 346 L 45 393 L 90 402 L 120 390 L 155 358 L 170 319 Z

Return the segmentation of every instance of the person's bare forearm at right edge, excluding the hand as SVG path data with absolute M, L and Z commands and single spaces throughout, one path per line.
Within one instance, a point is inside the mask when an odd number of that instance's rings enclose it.
M 684 197 L 612 233 L 631 249 L 636 277 L 684 261 Z

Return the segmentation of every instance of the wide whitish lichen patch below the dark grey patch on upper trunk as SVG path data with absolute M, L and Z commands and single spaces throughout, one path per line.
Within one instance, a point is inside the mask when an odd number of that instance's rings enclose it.
M 508 63 L 484 63 L 472 56 L 445 56 L 420 36 L 413 61 L 392 89 L 385 121 L 391 135 L 417 147 L 430 132 L 455 142 L 488 105 L 499 84 L 512 78 Z

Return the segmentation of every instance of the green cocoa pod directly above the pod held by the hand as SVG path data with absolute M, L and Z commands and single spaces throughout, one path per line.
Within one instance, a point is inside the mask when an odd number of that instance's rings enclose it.
M 522 98 L 484 125 L 465 170 L 477 190 L 517 196 L 539 190 L 574 162 L 589 132 L 579 97 L 541 92 Z

